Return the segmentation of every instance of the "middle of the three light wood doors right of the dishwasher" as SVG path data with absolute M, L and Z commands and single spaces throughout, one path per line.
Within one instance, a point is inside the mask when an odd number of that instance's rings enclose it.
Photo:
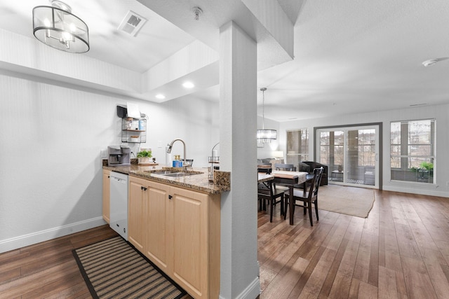
M 169 190 L 170 186 L 149 182 L 147 227 L 145 228 L 147 238 L 145 256 L 167 274 L 170 274 L 173 265 L 170 260 L 173 244 L 170 241 L 172 239 L 170 236 L 171 221 L 168 218 Z

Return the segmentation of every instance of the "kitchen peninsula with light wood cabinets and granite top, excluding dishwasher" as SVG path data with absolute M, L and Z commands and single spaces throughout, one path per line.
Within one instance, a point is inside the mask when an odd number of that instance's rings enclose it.
M 206 171 L 205 171 L 206 170 Z M 129 174 L 128 241 L 194 298 L 220 293 L 220 193 L 207 169 L 103 167 L 103 218 L 109 221 L 109 175 Z M 226 180 L 225 180 L 226 181 Z M 229 182 L 229 180 L 228 180 Z

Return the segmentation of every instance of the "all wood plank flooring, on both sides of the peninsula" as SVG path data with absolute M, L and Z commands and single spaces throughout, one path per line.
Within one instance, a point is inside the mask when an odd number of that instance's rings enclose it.
M 449 198 L 375 192 L 368 218 L 259 212 L 260 298 L 449 298 Z M 91 298 L 72 249 L 107 226 L 0 254 L 0 298 Z M 189 298 L 189 297 L 186 297 Z

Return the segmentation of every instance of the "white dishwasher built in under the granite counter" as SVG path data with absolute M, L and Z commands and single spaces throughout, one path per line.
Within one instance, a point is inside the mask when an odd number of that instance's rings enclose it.
M 111 172 L 109 226 L 128 241 L 128 174 Z

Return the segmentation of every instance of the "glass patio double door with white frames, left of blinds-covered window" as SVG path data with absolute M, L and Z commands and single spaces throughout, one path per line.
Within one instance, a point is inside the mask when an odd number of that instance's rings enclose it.
M 317 161 L 328 165 L 328 182 L 379 188 L 379 125 L 316 130 Z

